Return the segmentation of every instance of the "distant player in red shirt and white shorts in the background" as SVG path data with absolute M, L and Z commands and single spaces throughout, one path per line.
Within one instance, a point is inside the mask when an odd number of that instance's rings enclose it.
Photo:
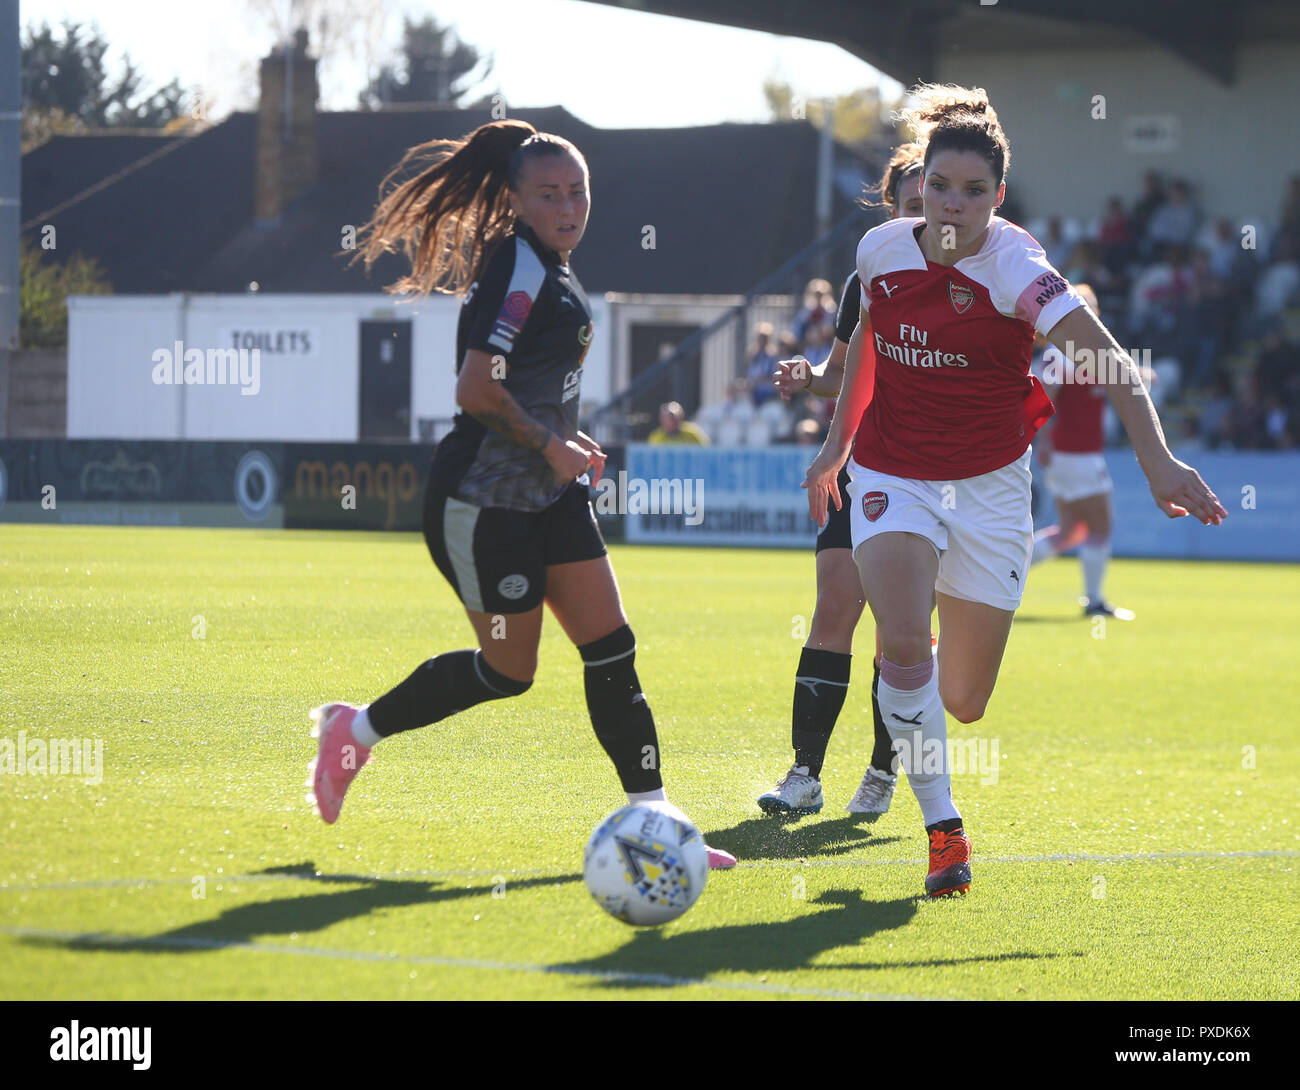
M 1092 287 L 1076 284 L 1074 290 L 1095 315 L 1101 313 Z M 1076 368 L 1056 347 L 1048 347 L 1043 363 L 1043 385 L 1056 406 L 1056 415 L 1039 432 L 1034 450 L 1043 466 L 1048 492 L 1056 501 L 1058 523 L 1034 535 L 1030 566 L 1078 545 L 1084 617 L 1132 620 L 1132 610 L 1113 606 L 1101 593 L 1110 562 L 1110 493 L 1114 489 L 1101 453 L 1105 446 L 1105 386 L 1096 381 L 1092 368 Z M 1143 379 L 1149 377 L 1144 369 Z

